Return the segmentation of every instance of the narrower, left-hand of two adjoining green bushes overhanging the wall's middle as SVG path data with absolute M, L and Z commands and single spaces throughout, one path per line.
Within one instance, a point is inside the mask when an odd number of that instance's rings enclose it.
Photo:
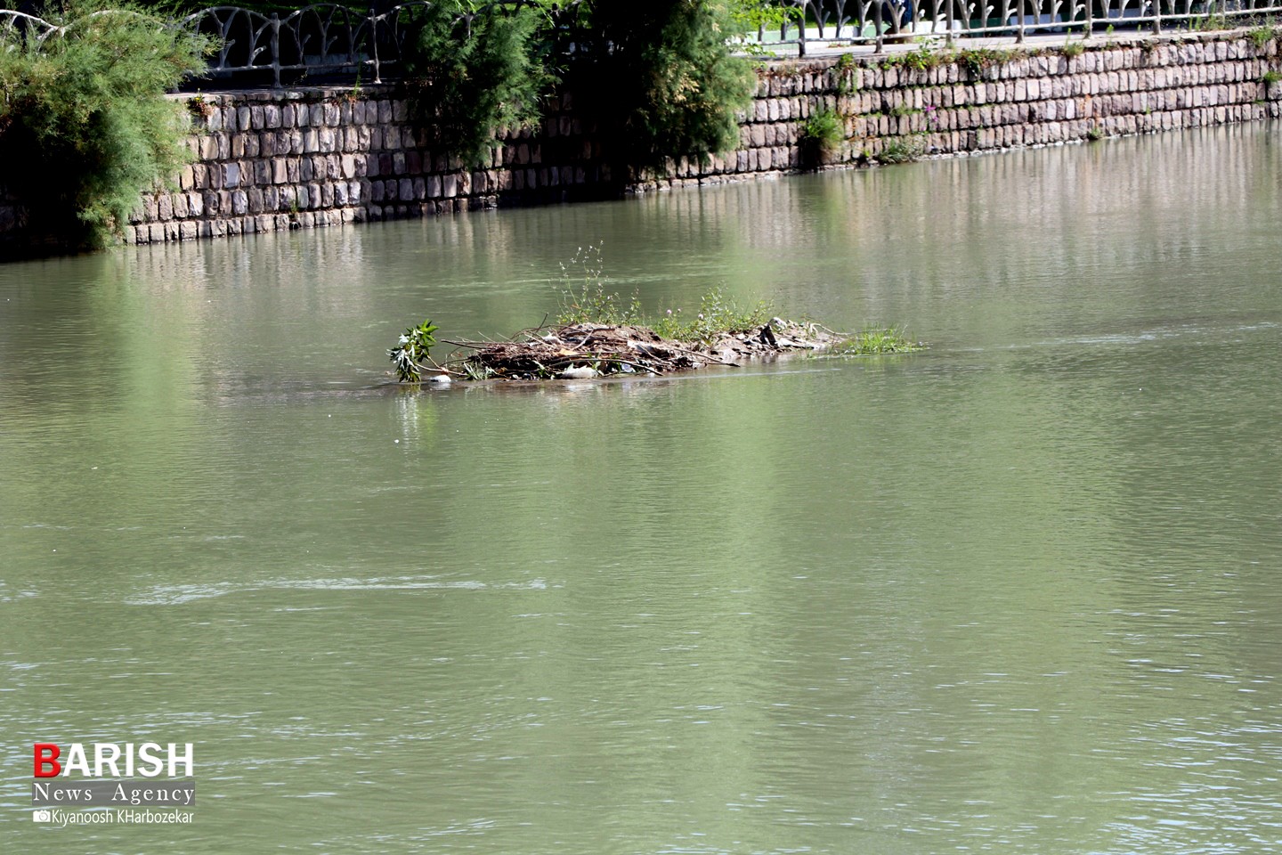
M 423 13 L 406 41 L 404 72 L 417 118 L 433 142 L 468 165 L 483 165 L 495 135 L 531 127 L 554 82 L 529 6 L 478 15 L 468 0 L 442 0 Z

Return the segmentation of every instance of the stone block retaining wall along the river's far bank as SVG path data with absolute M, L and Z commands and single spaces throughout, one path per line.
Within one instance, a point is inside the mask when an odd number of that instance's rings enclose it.
M 1090 44 L 1070 55 L 942 47 L 781 60 L 760 72 L 741 147 L 674 163 L 627 190 L 797 170 L 804 124 L 835 110 L 849 138 L 828 165 L 1147 133 L 1279 114 L 1276 41 L 1244 32 Z M 486 169 L 433 151 L 391 90 L 288 90 L 187 99 L 196 162 L 149 194 L 131 242 L 217 237 L 618 195 L 569 96 L 538 132 L 503 141 Z M 0 212 L 0 228 L 21 217 Z

